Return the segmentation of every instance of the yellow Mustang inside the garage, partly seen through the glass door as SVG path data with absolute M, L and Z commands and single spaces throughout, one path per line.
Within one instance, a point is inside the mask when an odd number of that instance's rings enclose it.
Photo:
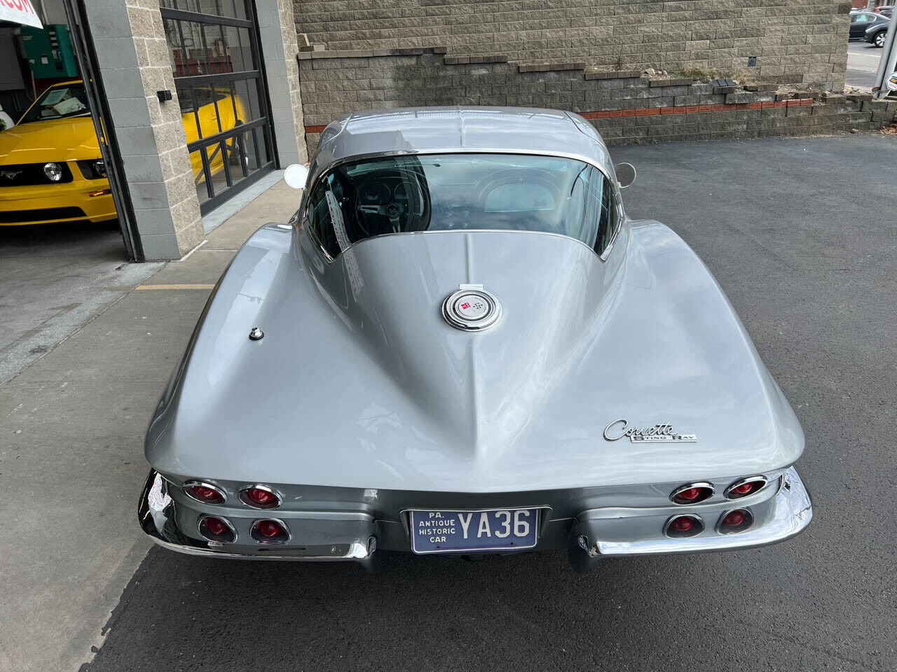
M 196 103 L 196 115 L 182 104 L 187 142 L 231 129 L 246 118 L 239 96 L 197 91 L 202 99 Z M 226 102 L 216 112 L 215 102 L 221 100 Z M 236 138 L 225 142 L 225 151 L 227 160 L 238 159 Z M 220 145 L 210 147 L 207 157 L 212 175 L 223 170 Z M 190 163 L 196 183 L 204 183 L 198 151 L 191 153 Z M 81 80 L 55 84 L 17 125 L 0 132 L 0 226 L 116 217 L 84 84 Z

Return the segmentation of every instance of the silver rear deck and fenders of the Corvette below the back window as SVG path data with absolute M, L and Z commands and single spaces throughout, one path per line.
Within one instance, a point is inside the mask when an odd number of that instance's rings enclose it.
M 657 222 L 627 222 L 606 262 L 567 237 L 445 231 L 327 264 L 289 229 L 250 238 L 206 307 L 147 435 L 162 473 L 497 492 L 735 477 L 803 451 L 718 284 Z M 462 283 L 498 297 L 499 323 L 443 320 Z M 697 441 L 605 440 L 618 418 Z

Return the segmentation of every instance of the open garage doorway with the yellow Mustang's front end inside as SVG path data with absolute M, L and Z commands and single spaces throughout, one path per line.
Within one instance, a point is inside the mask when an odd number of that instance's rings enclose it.
M 4 256 L 71 246 L 140 260 L 79 5 L 21 4 L 0 17 L 0 245 Z

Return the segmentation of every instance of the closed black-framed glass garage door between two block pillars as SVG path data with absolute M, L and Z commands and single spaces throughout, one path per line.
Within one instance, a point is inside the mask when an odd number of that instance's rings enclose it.
M 274 168 L 253 3 L 162 0 L 187 151 L 205 214 Z

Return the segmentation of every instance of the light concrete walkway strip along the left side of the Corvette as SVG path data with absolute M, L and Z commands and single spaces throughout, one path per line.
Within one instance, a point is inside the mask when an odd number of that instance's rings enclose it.
M 76 670 L 100 646 L 150 546 L 136 505 L 152 408 L 233 254 L 298 204 L 299 192 L 274 185 L 0 383 L 3 672 Z

